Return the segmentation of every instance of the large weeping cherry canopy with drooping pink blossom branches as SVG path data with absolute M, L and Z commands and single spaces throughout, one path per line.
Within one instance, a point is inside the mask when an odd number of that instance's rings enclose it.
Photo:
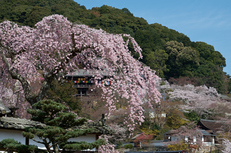
M 116 109 L 118 97 L 127 99 L 129 115 L 125 123 L 132 131 L 136 122 L 143 122 L 143 102 L 152 106 L 159 101 L 160 93 L 156 89 L 159 77 L 131 56 L 129 42 L 142 58 L 141 48 L 130 35 L 71 23 L 62 15 L 44 17 L 35 28 L 4 21 L 0 24 L 0 89 L 13 90 L 18 80 L 18 96 L 32 105 L 46 97 L 54 79 L 78 71 L 81 65 L 94 73 L 108 115 Z M 102 73 L 110 76 L 104 80 L 111 81 L 110 86 L 97 83 L 104 79 Z M 39 82 L 35 92 L 32 82 Z

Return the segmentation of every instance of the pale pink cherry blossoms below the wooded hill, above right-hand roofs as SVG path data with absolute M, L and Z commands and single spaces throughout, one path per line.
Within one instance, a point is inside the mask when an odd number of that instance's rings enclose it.
M 210 109 L 213 104 L 222 102 L 220 94 L 218 94 L 216 89 L 213 87 L 207 87 L 205 85 L 165 85 L 162 87 L 162 90 L 163 89 L 172 90 L 168 92 L 170 99 L 184 102 L 184 105 L 182 105 L 181 108 L 186 110 L 194 110 L 198 114 Z

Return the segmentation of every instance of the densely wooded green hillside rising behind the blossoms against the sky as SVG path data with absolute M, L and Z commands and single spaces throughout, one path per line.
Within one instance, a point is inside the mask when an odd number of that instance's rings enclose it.
M 87 10 L 73 0 L 1 0 L 0 10 L 0 22 L 10 20 L 33 27 L 44 16 L 62 14 L 72 22 L 130 34 L 143 49 L 142 62 L 160 77 L 172 83 L 182 83 L 184 79 L 194 85 L 215 87 L 220 93 L 230 92 L 230 76 L 223 72 L 225 58 L 212 44 L 192 42 L 161 24 L 148 24 L 126 8 L 104 5 Z

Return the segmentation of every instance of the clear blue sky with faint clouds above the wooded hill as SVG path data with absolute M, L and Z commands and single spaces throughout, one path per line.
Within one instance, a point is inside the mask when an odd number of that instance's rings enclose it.
M 87 9 L 127 8 L 149 24 L 159 23 L 185 34 L 191 41 L 214 46 L 226 59 L 231 75 L 231 0 L 75 0 Z

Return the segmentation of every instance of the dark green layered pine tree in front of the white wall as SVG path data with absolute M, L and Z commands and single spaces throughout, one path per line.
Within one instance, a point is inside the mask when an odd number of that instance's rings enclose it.
M 32 127 L 23 132 L 23 136 L 33 139 L 37 143 L 44 144 L 48 152 L 58 152 L 59 147 L 62 149 L 93 149 L 104 144 L 104 140 L 98 139 L 95 142 L 87 143 L 69 142 L 68 139 L 91 133 L 93 129 L 79 128 L 87 122 L 87 119 L 76 119 L 77 115 L 67 112 L 68 109 L 61 103 L 52 100 L 43 100 L 33 105 L 34 109 L 28 109 L 28 113 L 32 115 L 32 120 L 44 123 L 45 127 Z M 35 140 L 37 136 L 40 140 Z M 54 151 L 51 150 L 54 148 Z

